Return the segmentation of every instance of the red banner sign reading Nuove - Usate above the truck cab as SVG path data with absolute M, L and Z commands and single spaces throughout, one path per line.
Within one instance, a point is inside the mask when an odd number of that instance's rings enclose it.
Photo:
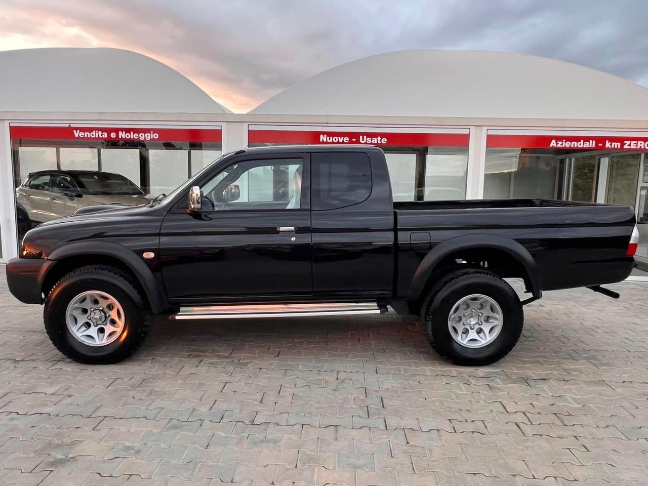
M 468 146 L 468 133 L 326 132 L 319 130 L 253 130 L 248 143 L 349 144 L 378 146 Z

